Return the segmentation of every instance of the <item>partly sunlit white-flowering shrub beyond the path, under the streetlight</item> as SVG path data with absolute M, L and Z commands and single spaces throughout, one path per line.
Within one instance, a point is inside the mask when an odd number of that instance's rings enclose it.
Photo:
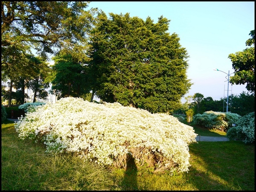
M 203 114 L 194 115 L 193 122 L 209 129 L 218 129 L 227 132 L 239 118 L 241 116 L 236 113 L 207 111 Z

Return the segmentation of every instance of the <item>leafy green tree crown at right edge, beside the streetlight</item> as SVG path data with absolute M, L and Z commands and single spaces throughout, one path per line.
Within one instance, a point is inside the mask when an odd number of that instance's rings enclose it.
M 250 39 L 246 41 L 246 46 L 249 48 L 244 49 L 242 52 L 236 52 L 236 54 L 229 54 L 228 58 L 232 61 L 233 69 L 235 73 L 233 77 L 230 77 L 232 84 L 247 84 L 246 89 L 249 92 L 255 92 L 255 36 L 254 30 L 250 31 Z

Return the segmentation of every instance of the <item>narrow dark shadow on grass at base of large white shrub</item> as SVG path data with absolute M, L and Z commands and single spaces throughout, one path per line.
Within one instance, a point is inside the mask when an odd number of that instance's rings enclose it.
M 127 167 L 125 170 L 125 175 L 122 180 L 122 189 L 128 190 L 128 191 L 137 191 L 138 185 L 137 185 L 137 166 L 135 164 L 135 159 L 130 158 L 127 162 Z

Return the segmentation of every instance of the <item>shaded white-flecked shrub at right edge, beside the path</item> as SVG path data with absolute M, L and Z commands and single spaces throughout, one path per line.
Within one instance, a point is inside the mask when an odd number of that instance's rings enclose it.
M 251 112 L 239 119 L 235 127 L 227 131 L 229 140 L 241 140 L 244 143 L 254 143 L 255 140 L 255 113 Z

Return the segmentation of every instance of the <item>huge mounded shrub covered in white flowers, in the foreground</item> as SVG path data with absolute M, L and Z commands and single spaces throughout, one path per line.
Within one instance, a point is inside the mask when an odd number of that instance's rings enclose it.
M 102 166 L 138 165 L 155 171 L 187 172 L 192 126 L 167 114 L 151 114 L 119 103 L 90 103 L 61 98 L 28 112 L 15 123 L 18 137 L 44 142 L 46 152 L 69 152 Z

